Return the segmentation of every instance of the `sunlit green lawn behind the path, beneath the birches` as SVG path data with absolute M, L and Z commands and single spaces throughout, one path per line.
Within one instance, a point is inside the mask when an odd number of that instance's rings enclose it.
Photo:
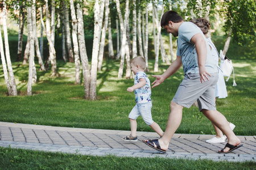
M 255 135 L 255 68 L 253 60 L 233 60 L 236 71 L 236 87 L 233 79 L 226 85 L 228 97 L 217 100 L 217 109 L 228 121 L 237 126 L 237 135 Z M 238 64 L 239 63 L 239 64 Z M 76 86 L 74 63 L 57 61 L 60 76 L 51 78 L 49 71 L 38 71 L 38 82 L 32 86 L 32 96 L 26 96 L 28 65 L 13 63 L 14 75 L 18 87 L 18 96 L 7 96 L 5 79 L 0 79 L 0 121 L 18 122 L 24 124 L 67 126 L 76 128 L 96 128 L 130 130 L 129 112 L 135 105 L 134 93 L 126 88 L 133 85 L 133 80 L 118 79 L 118 61 L 104 61 L 103 70 L 98 72 L 97 100 L 84 99 L 84 87 Z M 150 60 L 149 78 L 154 61 Z M 160 73 L 168 68 L 160 63 Z M 0 67 L 2 72 L 2 67 Z M 152 90 L 152 116 L 155 122 L 164 130 L 170 101 L 174 97 L 179 83 L 183 79 L 180 69 Z M 138 131 L 152 131 L 138 118 Z M 210 121 L 203 116 L 198 108 L 184 108 L 183 120 L 176 133 L 214 134 Z

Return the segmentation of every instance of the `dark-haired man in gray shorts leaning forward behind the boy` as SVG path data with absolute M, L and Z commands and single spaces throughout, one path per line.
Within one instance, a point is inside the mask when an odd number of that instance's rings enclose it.
M 212 54 L 203 32 L 195 24 L 184 22 L 175 11 L 165 12 L 160 24 L 168 33 L 178 36 L 177 58 L 162 75 L 152 75 L 156 78 L 152 88 L 174 74 L 181 65 L 185 76 L 171 101 L 171 112 L 163 137 L 143 142 L 156 150 L 166 152 L 172 136 L 179 128 L 183 107 L 189 108 L 197 100 L 200 111 L 228 137 L 229 142 L 218 152 L 226 154 L 241 147 L 240 139 L 230 129 L 225 116 L 216 111 L 215 84 L 218 70 L 213 57 L 210 57 Z

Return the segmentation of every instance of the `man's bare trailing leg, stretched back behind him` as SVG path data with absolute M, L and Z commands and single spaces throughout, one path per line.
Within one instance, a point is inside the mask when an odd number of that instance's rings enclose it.
M 228 138 L 228 143 L 230 145 L 237 146 L 241 143 L 240 139 L 234 134 L 234 132 L 229 127 L 229 122 L 226 120 L 226 117 L 218 111 L 209 111 L 203 109 L 202 112 L 204 115 L 213 122 Z M 230 148 L 226 147 L 224 152 L 229 151 Z

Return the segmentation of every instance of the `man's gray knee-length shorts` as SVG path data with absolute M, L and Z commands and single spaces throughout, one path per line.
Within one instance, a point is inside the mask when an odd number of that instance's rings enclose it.
M 202 84 L 199 74 L 185 74 L 183 81 L 174 96 L 174 101 L 185 108 L 190 108 L 197 100 L 199 110 L 216 110 L 215 86 L 218 81 L 218 73 L 210 73 L 209 80 Z

